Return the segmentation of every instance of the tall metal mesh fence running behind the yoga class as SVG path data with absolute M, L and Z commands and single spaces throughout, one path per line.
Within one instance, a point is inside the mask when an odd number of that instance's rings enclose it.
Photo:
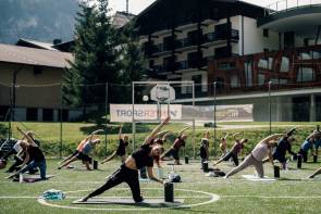
M 185 126 L 195 126 L 188 130 L 185 154 L 197 156 L 198 144 L 202 133 L 210 129 L 212 136 L 211 154 L 219 155 L 220 138 L 230 131 L 251 126 L 252 129 L 262 126 L 269 133 L 281 130 L 279 122 L 320 122 L 321 121 L 321 88 L 303 83 L 292 87 L 291 84 L 269 81 L 257 86 L 257 90 L 248 91 L 242 86 L 237 90 L 232 85 L 219 81 L 212 84 L 171 84 L 175 90 L 175 100 L 163 104 L 178 105 L 181 118 L 174 119 L 170 128 L 175 133 Z M 102 128 L 102 143 L 97 150 L 99 156 L 114 151 L 118 143 L 115 137 L 119 128 L 109 126 L 110 104 L 132 105 L 134 103 L 157 104 L 156 101 L 143 99 L 150 97 L 152 84 L 133 85 L 97 84 L 79 86 L 84 99 L 78 104 L 66 102 L 61 85 L 44 86 L 0 86 L 1 138 L 21 138 L 16 126 L 25 130 L 33 129 L 36 138 L 51 156 L 63 156 L 72 152 L 77 143 L 92 130 Z M 194 89 L 195 92 L 194 92 Z M 229 89 L 229 90 L 227 90 Z M 194 93 L 194 95 L 193 95 Z M 86 97 L 86 98 L 85 98 Z M 159 119 L 138 122 L 135 135 L 138 143 L 144 140 Z M 311 123 L 311 129 L 313 128 Z M 118 123 L 112 123 L 118 124 Z M 276 126 L 277 125 L 277 126 Z M 285 126 L 284 129 L 289 128 Z M 131 122 L 124 122 L 125 134 L 133 134 Z M 244 130 L 243 130 L 244 131 Z M 170 147 L 173 137 L 166 142 Z

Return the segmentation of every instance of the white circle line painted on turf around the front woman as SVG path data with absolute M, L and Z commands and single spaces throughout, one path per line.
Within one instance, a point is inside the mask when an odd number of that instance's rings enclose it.
M 144 189 L 157 189 L 157 188 L 144 188 Z M 86 190 L 87 191 L 87 190 Z M 176 189 L 176 191 L 186 191 L 186 192 L 195 192 L 195 193 L 201 193 L 209 196 L 210 200 L 200 202 L 200 203 L 194 203 L 194 204 L 186 204 L 186 205 L 177 205 L 177 206 L 169 206 L 169 207 L 150 207 L 150 209 L 95 209 L 95 207 L 84 207 L 84 206 L 69 206 L 69 205 L 59 205 L 59 204 L 52 204 L 44 200 L 42 198 L 38 198 L 38 202 L 42 205 L 51 206 L 51 207 L 60 207 L 60 209 L 72 209 L 72 210 L 86 210 L 86 211 L 151 211 L 157 209 L 186 209 L 186 207 L 193 207 L 193 206 L 199 206 L 212 203 L 214 201 L 218 201 L 220 197 L 214 193 L 205 192 L 205 191 L 195 191 L 195 190 L 188 190 L 188 189 Z M 180 198 L 180 197 L 178 197 Z

